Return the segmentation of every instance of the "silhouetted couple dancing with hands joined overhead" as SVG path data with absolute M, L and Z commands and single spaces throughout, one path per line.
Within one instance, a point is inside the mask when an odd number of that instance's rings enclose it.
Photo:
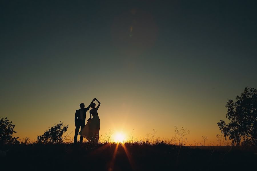
M 95 107 L 94 101 L 98 102 L 98 106 Z M 76 130 L 75 130 L 75 135 L 74 135 L 74 143 L 77 143 L 77 138 L 78 134 L 80 135 L 80 140 L 79 142 L 83 142 L 83 137 L 85 137 L 89 142 L 92 143 L 98 143 L 99 140 L 99 130 L 100 130 L 100 119 L 97 113 L 97 110 L 100 106 L 100 101 L 98 101 L 96 98 L 93 99 L 93 101 L 90 103 L 90 105 L 85 108 L 85 104 L 81 103 L 80 109 L 76 110 L 75 113 L 75 125 L 76 125 Z M 86 122 L 86 112 L 92 107 L 92 109 L 89 111 L 90 117 L 87 120 L 87 124 L 85 125 Z M 92 118 L 93 115 L 93 118 Z M 79 128 L 80 132 L 79 132 Z

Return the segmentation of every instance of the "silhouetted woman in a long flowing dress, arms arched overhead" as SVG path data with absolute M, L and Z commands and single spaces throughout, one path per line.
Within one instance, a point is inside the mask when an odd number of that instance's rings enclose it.
M 95 103 L 93 101 L 98 102 L 98 106 L 95 108 Z M 87 120 L 87 124 L 81 131 L 79 132 L 79 135 L 82 137 L 85 137 L 89 142 L 92 143 L 98 143 L 99 140 L 99 130 L 100 130 L 100 119 L 97 113 L 97 110 L 100 106 L 100 101 L 98 101 L 96 98 L 93 99 L 91 103 L 92 109 L 89 111 L 90 118 Z M 93 115 L 93 118 L 92 118 Z

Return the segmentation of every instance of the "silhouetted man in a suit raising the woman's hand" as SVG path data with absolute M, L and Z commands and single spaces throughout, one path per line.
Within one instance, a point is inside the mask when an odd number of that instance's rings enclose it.
M 74 135 L 74 143 L 77 143 L 79 128 L 81 130 L 85 126 L 86 112 L 90 109 L 90 105 L 87 108 L 85 108 L 84 103 L 81 103 L 79 106 L 80 106 L 80 109 L 76 110 L 75 112 L 76 130 Z M 82 143 L 82 142 L 83 142 L 83 137 L 80 136 L 79 143 Z

